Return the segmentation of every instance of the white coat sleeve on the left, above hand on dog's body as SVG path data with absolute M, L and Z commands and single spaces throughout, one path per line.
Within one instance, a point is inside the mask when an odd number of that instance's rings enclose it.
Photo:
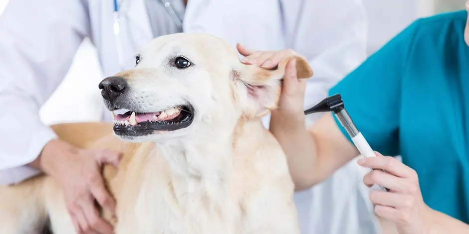
M 0 15 L 0 184 L 38 171 L 25 166 L 56 137 L 39 108 L 62 82 L 90 33 L 85 0 L 10 0 Z

